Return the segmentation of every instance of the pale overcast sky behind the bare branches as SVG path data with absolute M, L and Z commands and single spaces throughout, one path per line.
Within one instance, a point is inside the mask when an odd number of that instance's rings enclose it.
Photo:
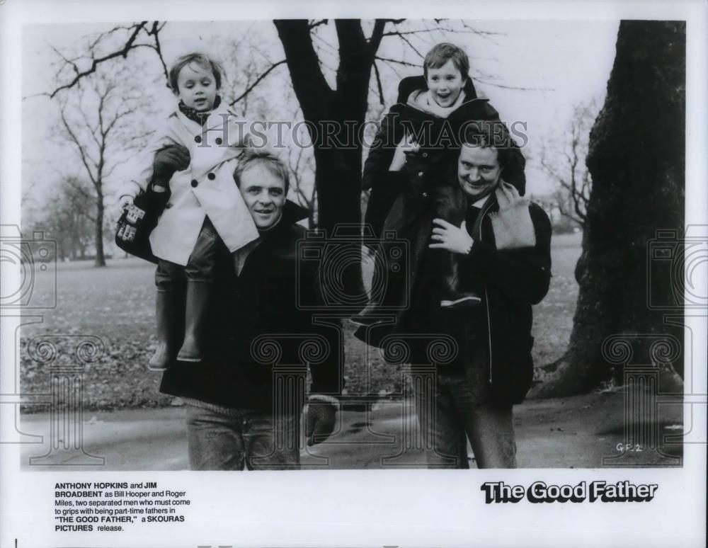
M 605 96 L 607 78 L 615 55 L 618 21 L 474 21 L 467 24 L 480 33 L 426 32 L 411 37 L 411 44 L 423 55 L 435 42 L 454 42 L 467 50 L 478 93 L 484 94 L 498 110 L 501 119 L 525 122 L 529 137 L 530 157 L 527 164 L 529 193 L 552 191 L 549 178 L 537 167 L 537 147 L 545 137 L 562 135 L 571 118 L 573 105 L 595 98 L 598 105 Z M 371 23 L 365 25 L 370 29 Z M 434 28 L 433 22 L 406 21 L 400 30 Z M 44 24 L 27 25 L 23 29 L 23 96 L 32 96 L 52 89 L 52 62 L 58 50 L 70 48 L 84 35 L 99 33 L 111 24 Z M 166 62 L 191 50 L 205 50 L 216 57 L 229 40 L 249 37 L 258 44 L 261 59 L 277 61 L 283 52 L 278 35 L 270 21 L 168 23 L 161 33 L 161 45 Z M 254 40 L 255 37 L 255 40 Z M 321 52 L 323 71 L 333 85 L 336 67 L 336 35 L 333 25 L 318 29 L 316 46 Z M 144 50 L 148 72 L 131 74 L 138 85 L 154 88 L 160 67 L 156 56 Z M 399 38 L 384 38 L 378 55 L 420 65 L 422 59 Z M 421 74 L 417 67 L 382 66 L 384 96 L 390 105 L 396 95 L 401 76 Z M 484 75 L 484 76 L 481 76 Z M 235 75 L 234 77 L 238 77 Z M 274 110 L 282 108 L 282 82 L 289 78 L 282 65 L 263 81 L 265 96 L 270 93 Z M 269 91 L 270 90 L 270 91 Z M 153 90 L 159 116 L 174 108 L 174 99 L 163 85 Z M 280 99 L 280 101 L 279 101 Z M 378 101 L 375 93 L 370 103 Z M 70 159 L 55 147 L 56 105 L 45 97 L 23 101 L 23 185 L 30 182 L 37 188 L 56 178 L 57 162 L 66 166 Z M 54 151 L 54 154 L 52 154 Z M 50 161 L 47 162 L 47 152 Z M 59 156 L 59 157 L 54 157 Z M 118 172 L 120 173 L 120 171 Z

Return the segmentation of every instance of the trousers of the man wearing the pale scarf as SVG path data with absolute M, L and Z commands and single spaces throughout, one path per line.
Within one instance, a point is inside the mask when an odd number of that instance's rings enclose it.
M 479 468 L 515 468 L 511 406 L 496 407 L 464 372 L 411 379 L 429 468 L 469 468 L 467 440 Z M 476 383 L 474 383 L 476 384 Z

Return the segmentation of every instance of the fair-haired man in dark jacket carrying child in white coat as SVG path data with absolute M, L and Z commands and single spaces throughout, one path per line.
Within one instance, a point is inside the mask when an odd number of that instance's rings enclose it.
M 204 333 L 205 359 L 170 367 L 160 390 L 187 404 L 192 469 L 297 469 L 308 366 L 309 445 L 334 428 L 341 330 L 313 325 L 297 306 L 302 299 L 316 301 L 319 273 L 308 261 L 297 261 L 305 231 L 296 223 L 307 212 L 285 199 L 285 166 L 266 152 L 249 152 L 234 179 L 261 242 L 238 278 L 224 248 Z

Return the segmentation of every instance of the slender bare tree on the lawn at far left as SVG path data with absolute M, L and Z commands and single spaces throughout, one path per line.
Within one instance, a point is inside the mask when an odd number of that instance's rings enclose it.
M 81 176 L 91 188 L 76 185 L 80 177 L 67 178 L 67 184 L 93 202 L 91 220 L 96 246 L 95 266 L 105 266 L 103 229 L 105 184 L 115 169 L 130 156 L 127 152 L 144 146 L 150 131 L 140 126 L 140 94 L 125 85 L 125 69 L 108 72 L 101 68 L 81 79 L 70 93 L 57 96 L 60 136 L 79 160 Z M 74 183 L 72 183 L 74 181 Z

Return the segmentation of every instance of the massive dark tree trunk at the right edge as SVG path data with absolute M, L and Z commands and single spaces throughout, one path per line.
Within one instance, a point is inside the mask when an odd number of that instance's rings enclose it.
M 532 395 L 587 392 L 613 375 L 621 382 L 622 364 L 603 353 L 609 336 L 632 341 L 636 364 L 657 363 L 658 336 L 683 342 L 683 331 L 664 321 L 671 311 L 649 306 L 674 300 L 677 279 L 648 253 L 659 229 L 683 236 L 684 131 L 685 23 L 622 21 L 605 105 L 590 132 L 593 189 L 569 348 L 542 368 L 552 375 Z M 674 272 L 683 282 L 683 268 Z M 673 312 L 683 314 L 680 303 Z M 682 359 L 669 361 L 683 374 Z

